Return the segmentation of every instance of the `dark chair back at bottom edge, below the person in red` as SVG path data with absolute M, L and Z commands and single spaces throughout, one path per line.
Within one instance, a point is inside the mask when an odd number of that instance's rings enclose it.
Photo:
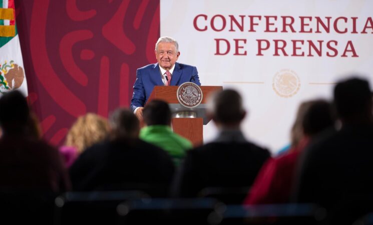
M 210 215 L 213 225 L 322 224 L 326 210 L 313 204 L 226 205 Z

